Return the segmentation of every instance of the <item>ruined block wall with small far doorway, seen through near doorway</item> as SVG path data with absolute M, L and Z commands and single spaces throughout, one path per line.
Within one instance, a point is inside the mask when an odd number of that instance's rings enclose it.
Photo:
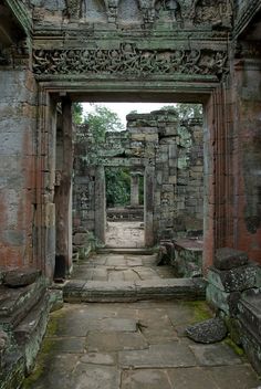
M 161 239 L 202 235 L 203 160 L 202 124 L 179 122 L 171 111 L 127 116 L 127 130 L 106 133 L 96 146 L 80 128 L 75 144 L 75 229 L 92 231 L 105 242 L 105 167 L 129 167 L 136 183 L 143 175 L 145 192 L 145 244 Z

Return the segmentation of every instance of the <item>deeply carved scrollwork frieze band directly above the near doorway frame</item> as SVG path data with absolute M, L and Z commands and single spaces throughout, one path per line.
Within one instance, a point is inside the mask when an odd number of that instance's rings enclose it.
M 227 73 L 227 51 L 140 50 L 125 43 L 119 49 L 34 50 L 38 75 L 153 75 L 199 74 L 218 78 Z

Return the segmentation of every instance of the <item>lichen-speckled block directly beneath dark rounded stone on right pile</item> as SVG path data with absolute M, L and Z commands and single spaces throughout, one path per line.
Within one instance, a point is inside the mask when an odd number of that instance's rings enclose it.
M 210 267 L 208 271 L 208 282 L 225 292 L 244 291 L 254 287 L 257 276 L 255 266 L 240 266 L 220 271 Z

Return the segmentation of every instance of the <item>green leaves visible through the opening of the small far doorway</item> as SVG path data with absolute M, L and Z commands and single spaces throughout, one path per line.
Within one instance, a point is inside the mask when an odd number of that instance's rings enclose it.
M 108 208 L 125 207 L 130 200 L 130 175 L 127 168 L 106 168 L 106 201 Z

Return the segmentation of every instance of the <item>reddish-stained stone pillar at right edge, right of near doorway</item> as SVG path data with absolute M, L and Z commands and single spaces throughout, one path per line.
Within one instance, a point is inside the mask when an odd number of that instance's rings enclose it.
M 247 53 L 246 55 L 249 55 Z M 261 263 L 261 60 L 234 63 L 233 246 Z

